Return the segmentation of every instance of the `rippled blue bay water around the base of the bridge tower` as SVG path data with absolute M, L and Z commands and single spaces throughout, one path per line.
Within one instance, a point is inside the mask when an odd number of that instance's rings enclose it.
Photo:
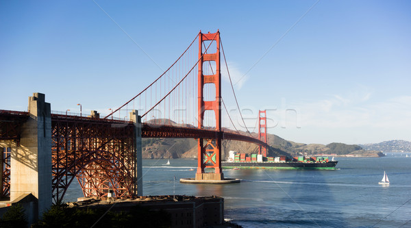
M 213 185 L 179 183 L 197 160 L 143 160 L 143 193 L 224 197 L 225 218 L 243 227 L 411 227 L 411 157 L 338 161 L 338 170 L 223 170 L 242 182 Z M 378 184 L 384 170 L 388 187 Z

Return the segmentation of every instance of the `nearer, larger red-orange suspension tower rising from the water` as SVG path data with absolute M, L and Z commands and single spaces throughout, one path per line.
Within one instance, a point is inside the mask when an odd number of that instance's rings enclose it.
M 216 45 L 215 53 L 203 53 L 203 42 L 211 40 L 211 45 Z M 206 46 L 206 45 L 204 45 Z M 203 74 L 203 65 L 214 61 L 216 71 L 213 75 Z M 208 63 L 207 63 L 208 62 Z M 202 129 L 204 122 L 204 112 L 214 111 L 216 118 L 216 138 L 198 140 L 198 167 L 195 175 L 196 180 L 221 180 L 224 175 L 221 168 L 221 72 L 220 72 L 220 32 L 214 34 L 199 34 L 199 74 L 198 74 L 198 127 Z M 214 101 L 204 101 L 204 86 L 214 84 L 216 98 Z M 205 173 L 205 168 L 214 168 L 214 173 Z

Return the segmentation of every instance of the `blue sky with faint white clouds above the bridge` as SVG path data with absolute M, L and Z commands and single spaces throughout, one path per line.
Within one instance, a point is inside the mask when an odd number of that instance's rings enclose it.
M 411 1 L 0 1 L 0 109 L 42 92 L 108 112 L 200 29 L 221 31 L 249 128 L 266 109 L 295 142 L 411 141 Z

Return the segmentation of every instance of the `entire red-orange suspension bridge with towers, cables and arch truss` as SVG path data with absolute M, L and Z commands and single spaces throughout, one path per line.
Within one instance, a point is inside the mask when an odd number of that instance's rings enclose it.
M 248 129 L 238 131 L 229 116 L 221 95 L 221 53 L 231 82 L 219 31 L 200 31 L 160 77 L 104 118 L 97 112 L 90 116 L 51 113 L 44 94 L 30 98 L 29 112 L 0 110 L 1 197 L 13 198 L 22 191 L 10 185 L 10 180 L 18 179 L 22 172 L 13 173 L 14 164 L 28 167 L 23 168 L 27 173 L 41 169 L 40 147 L 47 146 L 48 138 L 50 149 L 46 147 L 44 160 L 51 160 L 51 194 L 55 202 L 62 201 L 75 179 L 85 197 L 104 197 L 109 189 L 119 198 L 141 195 L 141 138 L 197 139 L 196 180 L 225 179 L 222 140 L 258 144 L 259 153 L 266 156 L 270 148 L 266 144 L 266 112 L 258 114 L 258 138 L 253 138 Z M 223 127 L 223 109 L 235 130 Z M 30 132 L 33 126 L 38 129 L 36 133 Z M 38 140 L 38 154 L 30 150 L 33 146 L 27 146 L 30 137 Z

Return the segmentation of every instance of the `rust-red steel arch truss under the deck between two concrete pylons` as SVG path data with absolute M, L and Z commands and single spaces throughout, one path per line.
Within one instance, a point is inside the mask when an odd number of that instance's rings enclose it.
M 76 117 L 76 116 L 75 116 Z M 53 199 L 61 201 L 76 177 L 85 197 L 136 194 L 133 123 L 52 115 Z

